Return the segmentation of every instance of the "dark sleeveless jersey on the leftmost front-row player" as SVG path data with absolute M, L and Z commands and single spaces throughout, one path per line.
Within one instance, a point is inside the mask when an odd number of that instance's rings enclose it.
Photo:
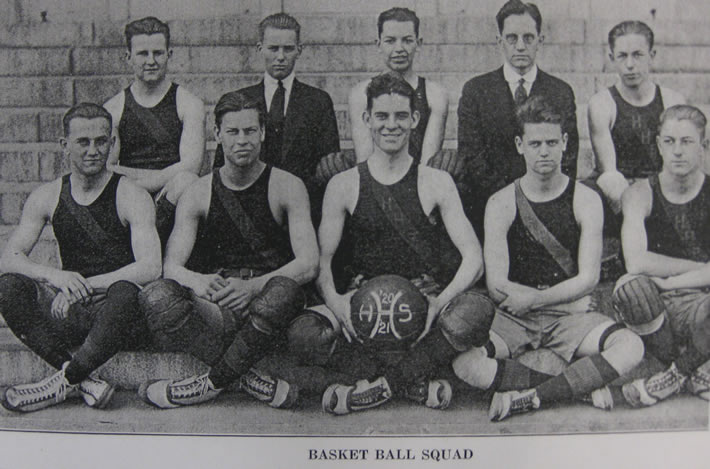
M 123 226 L 116 209 L 116 190 L 121 176 L 114 174 L 99 196 L 89 205 L 79 205 L 71 196 L 71 179 L 62 177 L 59 203 L 52 216 L 52 227 L 59 245 L 62 269 L 84 277 L 113 272 L 135 261 L 131 247 L 131 230 Z M 67 204 L 87 210 L 89 223 L 102 230 L 108 242 L 97 242 L 91 231 L 72 215 Z M 91 221 L 93 219 L 93 221 Z

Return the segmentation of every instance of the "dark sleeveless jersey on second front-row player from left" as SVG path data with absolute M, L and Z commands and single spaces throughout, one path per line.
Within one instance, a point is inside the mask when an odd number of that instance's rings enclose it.
M 210 206 L 207 217 L 199 222 L 195 245 L 187 262 L 188 269 L 204 274 L 215 273 L 219 269 L 273 270 L 234 224 L 222 203 L 220 191 L 226 191 L 227 196 L 239 200 L 264 244 L 281 254 L 283 264 L 294 258 L 288 233 L 276 223 L 269 207 L 271 169 L 267 165 L 251 186 L 238 191 L 224 185 L 219 169 L 212 172 Z

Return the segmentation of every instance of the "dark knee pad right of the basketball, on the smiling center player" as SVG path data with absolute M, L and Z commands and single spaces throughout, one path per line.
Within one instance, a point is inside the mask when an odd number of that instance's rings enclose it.
M 439 314 L 437 325 L 458 351 L 482 347 L 495 316 L 495 304 L 487 296 L 467 291 L 451 300 Z

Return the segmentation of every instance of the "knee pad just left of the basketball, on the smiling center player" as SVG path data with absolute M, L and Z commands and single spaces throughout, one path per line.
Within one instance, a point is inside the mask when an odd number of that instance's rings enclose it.
M 306 310 L 286 331 L 288 351 L 304 365 L 325 365 L 333 354 L 338 333 L 330 320 L 315 311 Z

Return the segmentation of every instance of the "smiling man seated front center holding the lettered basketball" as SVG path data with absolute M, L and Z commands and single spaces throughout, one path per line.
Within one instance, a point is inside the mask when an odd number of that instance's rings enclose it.
M 323 408 L 331 413 L 373 407 L 393 394 L 445 408 L 451 386 L 438 378 L 459 352 L 488 341 L 493 305 L 484 295 L 466 291 L 482 274 L 481 248 L 452 178 L 416 164 L 408 153 L 418 120 L 414 90 L 406 81 L 391 74 L 372 79 L 365 122 L 374 150 L 366 161 L 330 181 L 323 206 L 317 284 L 325 305 L 313 309 L 330 321 L 318 320 L 315 314 L 295 321 L 288 331 L 289 352 L 305 358 L 296 364 L 303 367 L 282 366 L 269 371 L 273 377 L 261 376 L 276 388 L 283 380 L 322 394 Z M 349 291 L 340 294 L 332 260 L 346 236 L 352 240 L 351 282 Z M 414 278 L 413 283 L 428 293 L 419 342 L 400 353 L 396 363 L 383 359 L 391 350 L 378 348 L 377 343 L 360 344 L 350 316 L 356 291 L 366 287 L 365 281 L 385 274 Z M 335 341 L 340 330 L 347 342 Z

